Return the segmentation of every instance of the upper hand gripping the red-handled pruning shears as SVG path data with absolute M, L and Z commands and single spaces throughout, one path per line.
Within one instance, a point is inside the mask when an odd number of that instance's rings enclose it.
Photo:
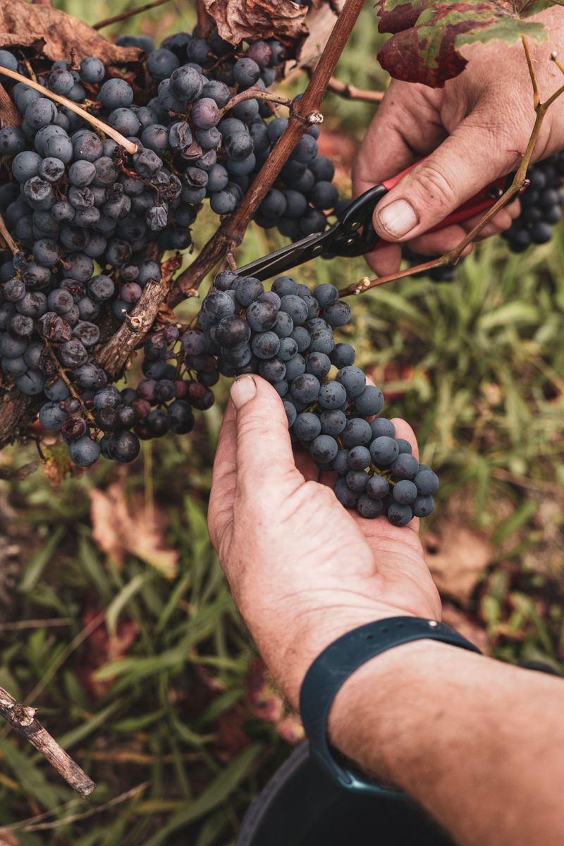
M 541 99 L 546 100 L 562 83 L 550 52 L 564 40 L 564 10 L 551 8 L 535 19 L 543 20 L 550 31 L 550 42 L 535 47 L 529 41 Z M 427 157 L 375 208 L 376 232 L 392 242 L 365 256 L 380 276 L 399 269 L 400 241 L 421 255 L 454 249 L 483 212 L 439 232 L 424 233 L 485 185 L 517 170 L 523 158 L 535 113 L 522 44 L 508 47 L 491 41 L 463 52 L 466 69 L 442 89 L 392 80 L 360 148 L 353 169 L 355 197 Z M 546 114 L 532 161 L 562 146 L 564 101 L 556 100 Z M 518 213 L 519 203 L 513 201 L 488 223 L 480 238 L 508 228 Z

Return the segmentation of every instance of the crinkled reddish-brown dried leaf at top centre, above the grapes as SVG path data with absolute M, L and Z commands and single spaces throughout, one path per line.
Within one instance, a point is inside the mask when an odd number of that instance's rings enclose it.
M 294 46 L 308 34 L 307 6 L 291 0 L 205 0 L 205 8 L 230 44 L 276 37 Z

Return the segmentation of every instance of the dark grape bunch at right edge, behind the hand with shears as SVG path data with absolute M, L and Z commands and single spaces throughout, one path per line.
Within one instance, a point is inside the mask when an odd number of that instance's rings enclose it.
M 530 244 L 545 244 L 552 227 L 562 217 L 564 204 L 564 152 L 530 165 L 528 186 L 519 195 L 521 214 L 501 233 L 512 253 L 522 253 Z

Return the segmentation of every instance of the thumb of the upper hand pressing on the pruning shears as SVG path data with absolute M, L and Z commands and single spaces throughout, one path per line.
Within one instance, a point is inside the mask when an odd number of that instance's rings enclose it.
M 403 241 L 423 235 L 509 173 L 517 163 L 516 151 L 507 150 L 506 135 L 496 134 L 495 127 L 493 116 L 489 122 L 483 114 L 470 115 L 404 176 L 375 208 L 374 226 L 381 238 Z

